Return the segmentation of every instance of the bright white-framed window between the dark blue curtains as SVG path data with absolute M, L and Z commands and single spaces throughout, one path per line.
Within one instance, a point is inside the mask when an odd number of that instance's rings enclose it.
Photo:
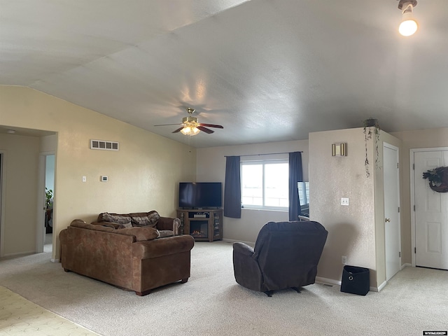
M 241 162 L 243 207 L 287 210 L 288 176 L 288 160 Z

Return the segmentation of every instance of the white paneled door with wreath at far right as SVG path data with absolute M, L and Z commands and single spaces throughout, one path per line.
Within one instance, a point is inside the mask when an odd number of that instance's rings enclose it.
M 448 165 L 448 151 L 414 153 L 415 265 L 448 269 L 448 193 L 436 193 L 423 172 Z

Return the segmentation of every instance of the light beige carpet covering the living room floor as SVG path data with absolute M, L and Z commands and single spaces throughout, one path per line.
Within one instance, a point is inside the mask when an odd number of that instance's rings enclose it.
M 66 273 L 48 253 L 0 261 L 0 285 L 107 336 L 422 335 L 448 329 L 448 272 L 407 267 L 379 293 L 314 284 L 267 297 L 239 286 L 232 244 L 197 242 L 191 278 L 138 297 Z

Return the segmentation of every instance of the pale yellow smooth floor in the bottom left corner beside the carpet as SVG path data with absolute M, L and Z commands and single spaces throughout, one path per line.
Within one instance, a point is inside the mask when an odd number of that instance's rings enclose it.
M 94 336 L 98 334 L 0 286 L 0 335 Z

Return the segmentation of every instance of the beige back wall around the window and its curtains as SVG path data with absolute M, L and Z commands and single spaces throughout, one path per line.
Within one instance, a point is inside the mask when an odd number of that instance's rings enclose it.
M 304 181 L 308 181 L 308 141 L 286 141 L 244 146 L 223 146 L 197 149 L 197 181 L 225 181 L 225 155 L 252 155 L 262 153 L 289 153 L 302 151 Z M 241 157 L 241 160 L 267 160 L 288 158 L 283 155 L 260 155 Z M 312 186 L 310 188 L 313 188 Z M 224 217 L 224 239 L 254 242 L 258 232 L 268 221 L 288 221 L 288 211 L 265 211 L 242 209 L 241 218 Z

